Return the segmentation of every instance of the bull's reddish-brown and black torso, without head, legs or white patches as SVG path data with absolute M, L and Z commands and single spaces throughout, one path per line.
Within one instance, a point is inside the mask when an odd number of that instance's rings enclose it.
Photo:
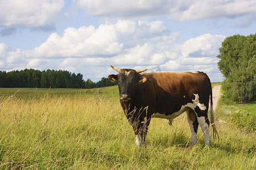
M 147 81 L 142 92 L 133 101 L 134 107 L 147 107 L 154 113 L 165 115 L 180 110 L 181 105 L 192 103 L 194 94 L 199 94 L 200 103 L 209 103 L 208 78 L 198 73 L 144 73 Z M 207 104 L 208 105 L 208 104 Z

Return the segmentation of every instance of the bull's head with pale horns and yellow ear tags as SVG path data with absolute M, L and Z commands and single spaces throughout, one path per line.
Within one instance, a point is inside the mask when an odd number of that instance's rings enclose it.
M 118 82 L 119 95 L 120 99 L 123 101 L 129 101 L 135 96 L 135 93 L 138 90 L 138 87 L 146 82 L 146 77 L 142 74 L 144 70 L 133 70 L 133 69 L 119 69 L 117 67 L 111 66 L 119 74 L 111 74 L 108 76 L 109 80 L 112 82 Z

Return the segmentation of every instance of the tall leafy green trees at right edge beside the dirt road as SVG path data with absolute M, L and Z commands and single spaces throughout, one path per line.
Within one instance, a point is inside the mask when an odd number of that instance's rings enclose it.
M 238 104 L 256 100 L 256 34 L 234 35 L 222 42 L 218 68 L 225 76 L 224 96 Z

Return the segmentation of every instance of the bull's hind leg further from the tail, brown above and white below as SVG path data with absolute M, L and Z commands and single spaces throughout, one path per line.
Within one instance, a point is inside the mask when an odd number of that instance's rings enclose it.
M 191 130 L 191 146 L 196 144 L 198 121 L 195 112 L 192 109 L 186 111 L 189 128 Z

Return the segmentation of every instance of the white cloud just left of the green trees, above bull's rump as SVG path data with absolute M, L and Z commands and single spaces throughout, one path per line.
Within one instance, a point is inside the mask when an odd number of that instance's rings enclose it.
M 183 44 L 176 44 L 173 48 L 175 51 L 172 53 L 172 56 L 175 57 L 162 64 L 162 70 L 219 73 L 220 70 L 217 69 L 218 58 L 216 56 L 224 39 L 225 36 L 207 33 L 189 39 Z

